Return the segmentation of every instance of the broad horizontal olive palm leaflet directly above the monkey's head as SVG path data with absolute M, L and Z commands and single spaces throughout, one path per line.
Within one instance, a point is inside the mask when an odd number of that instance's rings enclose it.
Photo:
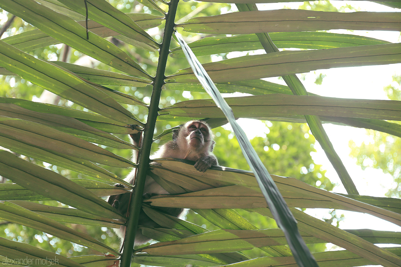
M 326 115 L 399 120 L 401 104 L 391 100 L 340 99 L 304 95 L 255 95 L 227 98 L 235 117 L 258 118 L 293 115 Z M 160 115 L 221 118 L 212 99 L 188 100 L 159 111 Z

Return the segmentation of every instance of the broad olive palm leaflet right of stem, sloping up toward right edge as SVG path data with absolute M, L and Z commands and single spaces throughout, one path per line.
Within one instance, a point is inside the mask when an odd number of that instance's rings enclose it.
M 283 51 L 226 59 L 204 64 L 204 67 L 216 83 L 243 81 L 316 69 L 400 63 L 400 48 L 400 44 L 377 44 L 309 51 Z M 168 76 L 168 79 L 178 83 L 193 83 L 196 77 L 192 73 L 191 69 L 184 69 Z

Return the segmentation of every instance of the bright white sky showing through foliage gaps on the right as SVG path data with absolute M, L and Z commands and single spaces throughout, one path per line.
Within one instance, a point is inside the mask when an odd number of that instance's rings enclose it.
M 358 6 L 358 11 L 375 11 L 375 12 L 394 12 L 393 8 L 383 6 L 373 2 L 367 1 L 330 1 L 334 6 L 340 7 L 347 3 L 352 6 Z M 258 5 L 259 10 L 262 9 L 279 9 L 283 6 L 290 8 L 298 8 L 302 3 L 275 3 L 275 4 L 260 4 Z M 397 10 L 401 11 L 401 10 Z M 347 32 L 344 30 L 335 30 L 332 32 L 336 33 L 347 33 L 347 34 L 358 34 L 363 36 L 369 36 L 390 42 L 400 42 L 400 32 L 387 32 L 387 31 L 354 31 Z M 239 55 L 232 55 L 237 57 Z M 316 74 L 323 73 L 324 77 L 322 85 L 316 85 L 314 83 Z M 316 93 L 322 96 L 328 97 L 344 97 L 344 98 L 356 98 L 356 99 L 388 99 L 383 91 L 383 87 L 391 84 L 392 76 L 394 74 L 401 74 L 401 64 L 381 65 L 381 66 L 366 66 L 366 67 L 350 67 L 350 68 L 334 68 L 324 69 L 318 71 L 312 71 L 305 75 L 305 81 L 302 83 L 305 85 L 309 92 Z M 301 75 L 298 75 L 301 78 Z M 268 81 L 275 83 L 283 83 L 283 81 L 277 80 L 277 78 L 269 78 Z M 302 79 L 301 79 L 302 80 Z M 257 120 L 239 119 L 238 122 L 245 130 L 249 139 L 255 136 L 264 136 L 266 125 Z M 249 125 L 254 127 L 249 128 Z M 368 196 L 379 196 L 384 197 L 385 193 L 391 188 L 393 178 L 389 174 L 384 174 L 381 170 L 367 169 L 363 171 L 359 166 L 355 164 L 355 160 L 350 158 L 350 148 L 348 147 L 348 141 L 353 140 L 356 144 L 360 144 L 367 139 L 365 135 L 365 129 L 353 128 L 340 125 L 325 124 L 324 129 L 326 130 L 336 152 L 340 156 L 344 163 L 348 173 L 354 181 L 356 188 L 361 195 Z M 312 154 L 312 158 L 316 164 L 321 164 L 323 168 L 327 170 L 326 177 L 332 182 L 338 183 L 340 186 L 336 186 L 333 192 L 345 193 L 346 191 L 342 186 L 337 173 L 330 164 L 326 157 L 326 154 L 316 142 L 315 148 L 316 153 Z M 324 214 L 327 214 L 326 209 L 308 209 L 307 213 L 315 216 L 316 218 L 322 218 Z M 362 214 L 358 212 L 342 211 L 339 210 L 338 214 L 344 213 L 345 220 L 340 222 L 341 229 L 375 229 L 375 230 L 386 230 L 386 231 L 401 231 L 401 227 L 389 223 L 385 220 L 376 218 L 369 214 Z M 331 248 L 330 245 L 328 248 Z M 335 247 L 331 248 L 335 249 Z

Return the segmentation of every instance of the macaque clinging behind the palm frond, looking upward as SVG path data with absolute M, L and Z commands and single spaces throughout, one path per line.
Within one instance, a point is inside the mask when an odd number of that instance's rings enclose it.
M 140 138 L 136 135 L 131 135 L 134 145 L 140 145 Z M 195 161 L 194 167 L 200 172 L 206 172 L 211 166 L 219 164 L 216 156 L 213 154 L 213 133 L 204 121 L 188 121 L 184 125 L 181 125 L 179 129 L 173 130 L 172 141 L 159 147 L 158 151 L 151 156 L 155 158 L 178 158 Z M 136 163 L 138 151 L 134 150 L 133 162 Z M 130 174 L 124 179 L 130 184 L 133 183 L 136 175 L 136 170 L 132 170 Z M 121 186 L 121 185 L 120 185 Z M 144 198 L 155 196 L 159 194 L 169 194 L 164 188 L 162 188 L 152 177 L 146 176 L 145 187 L 144 187 Z M 117 199 L 117 200 L 115 200 Z M 130 193 L 125 193 L 121 197 L 115 198 L 110 196 L 108 202 L 115 206 L 120 212 L 126 214 L 128 209 L 128 203 L 130 201 Z M 167 208 L 158 207 L 156 208 L 162 212 L 170 214 L 172 216 L 180 216 L 184 209 L 182 208 Z M 157 223 L 151 220 L 143 210 L 140 212 L 140 218 L 138 225 L 160 227 Z M 125 227 L 122 226 L 119 229 L 113 229 L 115 233 L 120 237 L 124 238 Z M 151 239 L 142 235 L 141 231 L 137 231 L 135 235 L 135 247 L 148 243 Z

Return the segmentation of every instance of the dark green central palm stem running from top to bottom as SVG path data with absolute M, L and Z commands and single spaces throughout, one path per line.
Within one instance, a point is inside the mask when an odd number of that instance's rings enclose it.
M 130 206 L 130 215 L 128 217 L 125 245 L 121 255 L 121 267 L 130 267 L 132 260 L 132 253 L 134 251 L 135 233 L 138 228 L 139 212 L 142 206 L 142 194 L 144 192 L 144 185 L 146 180 L 146 172 L 149 167 L 150 149 L 153 142 L 153 132 L 158 116 L 160 94 L 162 92 L 162 85 L 164 84 L 164 72 L 166 70 L 166 63 L 168 53 L 170 52 L 170 42 L 174 30 L 174 19 L 179 0 L 171 0 L 168 14 L 166 15 L 166 26 L 164 28 L 163 42 L 160 45 L 160 55 L 156 71 L 156 77 L 153 82 L 152 98 L 150 99 L 148 121 L 144 128 L 143 145 L 140 152 L 138 173 L 135 181 L 135 188 Z

